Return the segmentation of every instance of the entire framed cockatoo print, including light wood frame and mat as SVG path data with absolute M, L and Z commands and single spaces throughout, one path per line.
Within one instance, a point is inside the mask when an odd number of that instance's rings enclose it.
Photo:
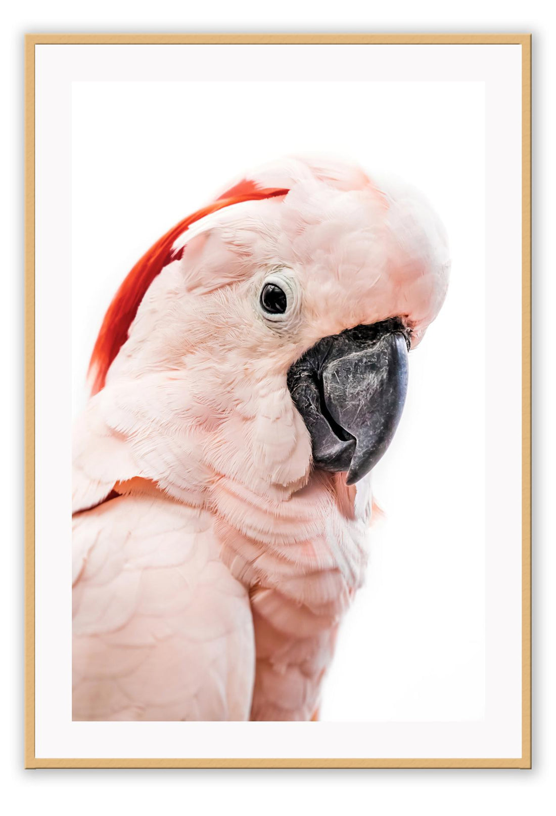
M 27 36 L 27 767 L 531 766 L 530 63 Z

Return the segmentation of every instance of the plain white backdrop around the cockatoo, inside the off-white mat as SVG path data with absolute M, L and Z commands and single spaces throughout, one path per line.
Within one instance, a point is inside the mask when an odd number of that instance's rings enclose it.
M 76 409 L 104 311 L 135 259 L 245 168 L 347 155 L 371 173 L 395 170 L 435 204 L 454 259 L 449 295 L 411 355 L 404 417 L 375 470 L 387 521 L 370 537 L 368 583 L 320 719 L 483 719 L 483 82 L 74 82 L 72 122 Z

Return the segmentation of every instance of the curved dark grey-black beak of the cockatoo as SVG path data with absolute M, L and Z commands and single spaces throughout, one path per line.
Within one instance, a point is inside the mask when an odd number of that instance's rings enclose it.
M 316 468 L 355 484 L 390 445 L 408 388 L 408 331 L 391 318 L 324 337 L 288 372 Z

